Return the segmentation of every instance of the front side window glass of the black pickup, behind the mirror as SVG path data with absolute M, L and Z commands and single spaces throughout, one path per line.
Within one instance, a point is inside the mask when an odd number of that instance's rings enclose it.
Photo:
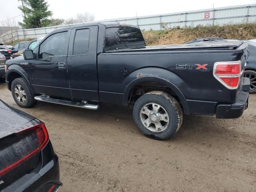
M 67 34 L 68 32 L 55 33 L 42 42 L 39 49 L 39 59 L 63 55 Z

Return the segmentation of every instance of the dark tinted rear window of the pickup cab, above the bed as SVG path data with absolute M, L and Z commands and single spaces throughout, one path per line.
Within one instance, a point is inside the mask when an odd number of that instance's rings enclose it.
M 143 35 L 138 28 L 106 28 L 105 51 L 140 48 L 145 45 Z

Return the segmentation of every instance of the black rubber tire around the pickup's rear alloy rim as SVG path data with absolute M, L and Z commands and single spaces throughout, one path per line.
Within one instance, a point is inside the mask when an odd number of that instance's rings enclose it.
M 142 108 L 144 108 L 145 105 L 150 105 L 150 103 L 159 104 L 168 115 L 169 122 L 166 125 L 166 128 L 161 132 L 153 132 L 149 130 L 142 122 Z M 162 91 L 152 91 L 144 94 L 135 102 L 133 108 L 133 119 L 139 130 L 144 135 L 157 140 L 166 140 L 174 136 L 182 124 L 182 118 L 183 113 L 178 101 Z

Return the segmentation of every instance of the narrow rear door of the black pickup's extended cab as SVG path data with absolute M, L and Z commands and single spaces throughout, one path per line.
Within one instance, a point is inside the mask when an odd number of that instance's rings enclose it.
M 72 96 L 99 101 L 97 74 L 98 26 L 72 29 L 68 47 L 68 76 Z

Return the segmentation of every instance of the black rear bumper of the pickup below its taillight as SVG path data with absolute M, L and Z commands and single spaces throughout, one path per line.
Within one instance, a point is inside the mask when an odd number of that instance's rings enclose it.
M 233 104 L 219 104 L 216 108 L 216 118 L 234 119 L 242 116 L 244 110 L 248 108 L 249 91 L 250 80 L 244 78 L 242 90 L 236 97 L 236 102 Z

